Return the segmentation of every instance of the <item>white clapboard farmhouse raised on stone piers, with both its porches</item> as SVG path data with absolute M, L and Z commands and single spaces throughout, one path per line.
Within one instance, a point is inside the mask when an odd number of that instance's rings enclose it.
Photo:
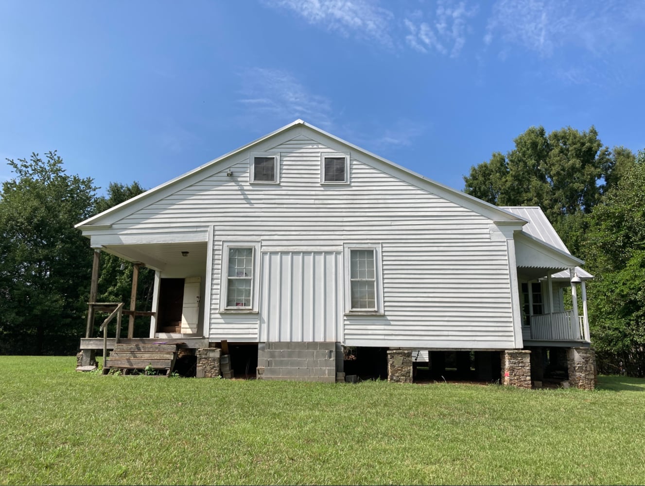
M 95 249 L 85 362 L 106 347 L 108 367 L 170 370 L 184 349 L 198 376 L 593 387 L 591 275 L 541 209 L 492 206 L 301 120 L 77 228 Z M 152 309 L 94 302 L 100 251 L 155 270 Z M 99 311 L 130 316 L 128 338 L 97 338 Z

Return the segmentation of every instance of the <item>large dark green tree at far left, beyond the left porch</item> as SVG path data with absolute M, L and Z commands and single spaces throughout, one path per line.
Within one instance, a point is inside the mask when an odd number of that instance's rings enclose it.
M 74 349 L 85 326 L 92 255 L 74 224 L 92 213 L 94 181 L 68 175 L 55 151 L 8 164 L 14 177 L 0 193 L 3 352 L 43 354 L 72 342 Z

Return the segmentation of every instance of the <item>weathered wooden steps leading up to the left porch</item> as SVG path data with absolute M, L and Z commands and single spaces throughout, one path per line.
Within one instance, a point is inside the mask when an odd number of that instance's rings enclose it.
M 128 374 L 135 370 L 143 371 L 146 367 L 149 369 L 150 365 L 154 371 L 163 370 L 170 376 L 180 344 L 116 344 L 106 360 L 103 374 L 110 373 L 110 369 L 120 369 Z

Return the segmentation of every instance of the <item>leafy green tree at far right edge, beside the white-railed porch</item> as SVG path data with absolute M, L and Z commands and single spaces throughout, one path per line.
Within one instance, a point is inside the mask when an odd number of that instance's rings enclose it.
M 590 325 L 600 356 L 644 376 L 645 151 L 621 171 L 590 218 Z

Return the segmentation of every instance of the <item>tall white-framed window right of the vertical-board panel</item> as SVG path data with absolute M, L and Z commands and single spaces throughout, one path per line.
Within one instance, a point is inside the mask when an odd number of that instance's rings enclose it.
M 381 313 L 382 281 L 379 245 L 347 244 L 346 309 L 350 313 Z

